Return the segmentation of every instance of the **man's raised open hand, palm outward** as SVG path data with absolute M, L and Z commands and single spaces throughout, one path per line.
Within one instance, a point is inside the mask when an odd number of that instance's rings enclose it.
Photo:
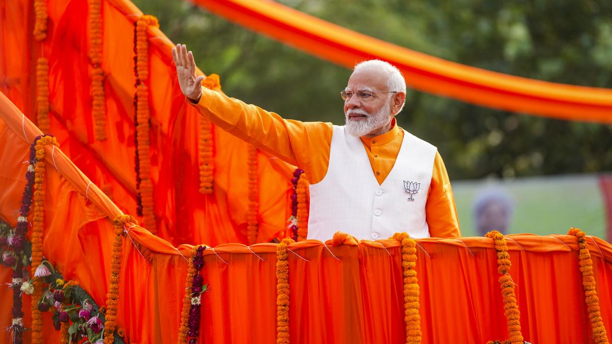
M 202 95 L 201 83 L 206 77 L 196 75 L 192 52 L 187 51 L 185 45 L 177 44 L 176 47 L 172 48 L 172 56 L 181 91 L 188 99 L 199 102 Z

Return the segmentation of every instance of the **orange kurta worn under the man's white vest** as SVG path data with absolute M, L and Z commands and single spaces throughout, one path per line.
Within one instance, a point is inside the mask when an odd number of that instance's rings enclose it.
M 198 111 L 223 130 L 288 163 L 302 168 L 311 184 L 322 181 L 329 166 L 333 126 L 329 122 L 300 122 L 202 88 Z M 189 101 L 190 102 L 190 101 Z M 192 103 L 192 102 L 190 102 Z M 374 138 L 361 138 L 379 184 L 390 173 L 404 132 L 392 129 Z M 427 224 L 431 237 L 461 236 L 455 198 L 442 157 L 436 152 L 427 195 Z

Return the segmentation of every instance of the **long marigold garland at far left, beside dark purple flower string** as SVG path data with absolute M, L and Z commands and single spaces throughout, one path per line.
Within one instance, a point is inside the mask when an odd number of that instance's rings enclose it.
M 45 146 L 58 141 L 51 135 L 37 136 L 34 140 L 34 217 L 32 223 L 32 270 L 36 271 L 42 263 L 43 226 L 45 224 Z M 38 300 L 42 296 L 42 280 L 35 280 L 32 293 L 32 343 L 42 343 L 42 313 L 38 309 Z

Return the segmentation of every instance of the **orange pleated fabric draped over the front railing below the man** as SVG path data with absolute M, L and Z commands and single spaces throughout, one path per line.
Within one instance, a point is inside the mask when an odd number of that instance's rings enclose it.
M 0 217 L 17 222 L 29 145 L 37 129 L 0 94 Z M 6 149 L 10 147 L 10 149 Z M 121 210 L 67 158 L 47 146 L 43 253 L 67 280 L 105 303 L 111 220 Z M 521 329 L 532 343 L 592 343 L 577 239 L 507 236 Z M 603 324 L 612 326 L 612 245 L 587 237 Z M 417 277 L 424 343 L 483 343 L 507 337 L 496 252 L 484 237 L 418 239 Z M 140 226 L 124 238 L 118 326 L 129 343 L 177 340 L 192 245 L 175 249 Z M 204 251 L 200 341 L 271 343 L 276 334 L 276 244 L 222 244 Z M 335 236 L 288 246 L 291 343 L 403 343 L 400 244 Z M 0 283 L 10 280 L 0 268 Z M 12 291 L 0 286 L 0 328 L 9 326 Z M 24 296 L 24 304 L 29 297 Z M 28 326 L 29 311 L 24 307 Z M 45 342 L 57 342 L 50 318 Z M 26 332 L 26 342 L 28 341 Z M 0 343 L 7 343 L 0 335 Z

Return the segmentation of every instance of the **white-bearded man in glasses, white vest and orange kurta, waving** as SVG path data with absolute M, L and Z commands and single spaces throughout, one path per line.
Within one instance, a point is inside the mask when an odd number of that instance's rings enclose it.
M 345 125 L 283 119 L 201 86 L 191 51 L 173 48 L 181 91 L 222 130 L 299 166 L 310 182 L 308 239 L 460 236 L 438 149 L 398 127 L 406 82 L 393 65 L 357 64 L 340 92 Z

